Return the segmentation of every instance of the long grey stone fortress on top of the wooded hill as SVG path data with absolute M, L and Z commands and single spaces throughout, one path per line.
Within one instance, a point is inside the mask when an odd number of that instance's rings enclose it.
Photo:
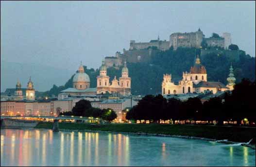
M 169 41 L 160 40 L 159 36 L 150 42 L 131 40 L 129 50 L 123 49 L 123 53 L 117 51 L 115 56 L 105 57 L 105 66 L 119 68 L 123 65 L 124 60 L 129 63 L 149 62 L 159 50 L 165 51 L 171 47 L 173 50 L 177 50 L 178 47 L 200 49 L 203 43 L 208 47 L 220 47 L 227 50 L 228 46 L 231 45 L 231 34 L 223 33 L 222 36 L 215 35 L 205 38 L 204 33 L 199 28 L 197 32 L 172 33 Z

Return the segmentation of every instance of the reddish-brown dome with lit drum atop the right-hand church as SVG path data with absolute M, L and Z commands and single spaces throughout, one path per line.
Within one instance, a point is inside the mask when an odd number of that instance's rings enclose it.
M 190 68 L 191 80 L 193 83 L 198 84 L 201 81 L 207 81 L 207 72 L 205 66 L 201 64 L 200 58 L 197 55 L 195 65 Z

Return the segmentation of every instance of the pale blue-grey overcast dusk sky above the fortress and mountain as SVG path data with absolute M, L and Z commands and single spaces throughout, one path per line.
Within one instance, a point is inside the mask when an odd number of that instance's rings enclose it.
M 229 32 L 255 56 L 255 1 L 1 1 L 1 61 L 99 67 L 130 40 Z

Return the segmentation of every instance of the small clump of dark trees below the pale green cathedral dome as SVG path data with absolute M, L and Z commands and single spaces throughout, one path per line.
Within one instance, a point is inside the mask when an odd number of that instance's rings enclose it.
M 95 117 L 102 118 L 103 120 L 112 121 L 117 118 L 117 114 L 111 108 L 100 109 L 91 106 L 91 102 L 88 100 L 80 100 L 76 102 L 70 112 L 63 112 L 60 115 L 65 116 L 82 116 L 82 117 Z

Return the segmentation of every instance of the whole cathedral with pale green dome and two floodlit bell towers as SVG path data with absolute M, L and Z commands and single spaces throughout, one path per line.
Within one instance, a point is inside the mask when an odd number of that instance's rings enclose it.
M 131 94 L 131 78 L 128 76 L 128 68 L 126 62 L 122 68 L 122 76 L 119 80 L 114 78 L 112 84 L 109 83 L 109 76 L 107 76 L 107 67 L 102 61 L 100 67 L 100 75 L 97 76 L 97 87 L 90 88 L 90 77 L 85 73 L 82 63 L 78 68 L 78 72 L 73 77 L 73 87 L 62 90 L 58 95 L 59 100 L 66 99 L 68 97 L 95 97 L 97 94 L 119 93 L 122 96 Z

